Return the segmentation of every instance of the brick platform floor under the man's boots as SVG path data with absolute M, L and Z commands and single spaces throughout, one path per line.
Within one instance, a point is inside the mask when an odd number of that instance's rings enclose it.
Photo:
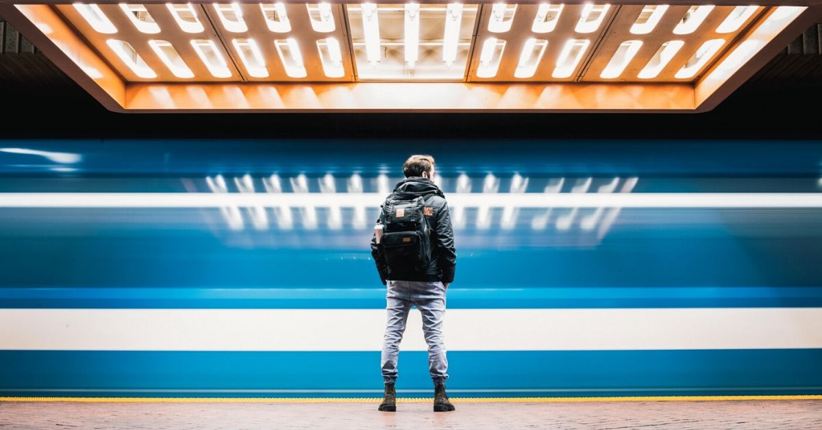
M 822 396 L 779 400 L 123 399 L 0 401 L 0 428 L 789 428 L 822 429 Z

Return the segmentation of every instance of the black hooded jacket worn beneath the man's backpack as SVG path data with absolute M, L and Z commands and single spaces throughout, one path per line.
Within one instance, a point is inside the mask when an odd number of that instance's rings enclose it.
M 451 228 L 451 215 L 448 212 L 446 196 L 430 180 L 418 177 L 403 179 L 394 187 L 394 191 L 413 192 L 420 196 L 435 193 L 427 197 L 425 201 L 425 206 L 433 209 L 433 214 L 428 216 L 428 224 L 434 230 L 431 237 L 432 256 L 425 273 L 392 273 L 391 268 L 386 266 L 382 246 L 377 245 L 375 234 L 371 239 L 371 255 L 376 262 L 376 270 L 380 272 L 380 280 L 383 284 L 386 284 L 386 280 L 440 280 L 445 284 L 450 284 L 454 280 L 457 255 L 454 248 L 454 229 Z

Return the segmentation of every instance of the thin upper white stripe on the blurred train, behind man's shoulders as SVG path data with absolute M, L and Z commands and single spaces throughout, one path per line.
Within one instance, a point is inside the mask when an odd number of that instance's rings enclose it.
M 0 207 L 379 207 L 385 198 L 374 192 L 0 192 Z M 822 207 L 822 192 L 456 192 L 447 199 L 450 206 L 459 207 Z

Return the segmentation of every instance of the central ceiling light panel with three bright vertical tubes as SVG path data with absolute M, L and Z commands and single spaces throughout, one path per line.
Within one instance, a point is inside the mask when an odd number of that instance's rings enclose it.
M 464 81 L 478 5 L 363 3 L 347 8 L 360 81 Z

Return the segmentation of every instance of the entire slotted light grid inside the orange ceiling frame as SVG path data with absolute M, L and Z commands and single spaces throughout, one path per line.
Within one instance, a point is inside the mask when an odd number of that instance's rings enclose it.
M 353 62 L 358 81 L 695 81 L 765 10 L 505 2 L 57 7 L 127 81 L 354 81 Z M 126 42 L 134 61 L 109 39 Z M 726 43 L 694 71 L 695 53 L 709 39 Z M 570 40 L 580 49 L 561 58 Z M 626 50 L 631 40 L 637 43 Z

